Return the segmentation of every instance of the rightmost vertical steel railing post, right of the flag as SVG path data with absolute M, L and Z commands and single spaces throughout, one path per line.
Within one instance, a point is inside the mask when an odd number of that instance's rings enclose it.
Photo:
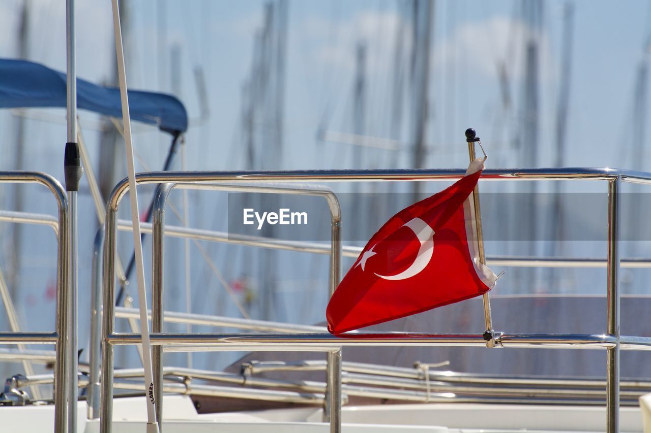
M 619 197 L 622 177 L 608 181 L 607 332 L 616 337 L 606 349 L 606 432 L 619 432 Z

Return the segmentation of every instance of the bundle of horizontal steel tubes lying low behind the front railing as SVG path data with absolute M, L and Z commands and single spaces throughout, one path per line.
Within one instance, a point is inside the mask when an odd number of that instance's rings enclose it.
M 322 361 L 315 361 L 315 363 L 318 363 L 321 371 L 326 369 L 326 363 Z M 494 402 L 527 402 L 528 399 L 529 402 L 544 401 L 548 404 L 577 404 L 577 402 L 580 404 L 603 404 L 605 399 L 604 380 L 503 378 L 438 371 L 425 376 L 422 370 L 393 367 L 393 369 L 399 370 L 400 374 L 413 376 L 406 378 L 396 377 L 396 371 L 383 371 L 383 366 L 353 364 L 342 363 L 344 372 L 342 374 L 342 392 L 348 397 L 416 402 L 458 402 L 469 399 L 484 402 L 487 399 L 492 399 Z M 291 367 L 296 367 L 296 365 Z M 360 368 L 365 369 L 367 373 L 350 371 Z M 115 378 L 142 378 L 143 373 L 143 369 L 120 369 L 115 372 Z M 237 393 L 238 389 L 242 389 L 241 387 L 284 389 L 298 393 L 322 394 L 326 391 L 324 382 L 279 380 L 268 376 L 263 378 L 248 374 L 247 371 L 236 374 L 184 367 L 165 367 L 163 374 L 167 380 L 183 382 L 192 386 L 195 386 L 195 380 L 229 384 L 234 386 L 232 393 Z M 622 382 L 621 386 L 621 395 L 623 399 L 626 399 L 627 404 L 637 404 L 640 395 L 651 390 L 651 382 L 626 381 Z M 247 389 L 247 391 L 249 390 Z M 188 393 L 191 393 L 191 390 Z

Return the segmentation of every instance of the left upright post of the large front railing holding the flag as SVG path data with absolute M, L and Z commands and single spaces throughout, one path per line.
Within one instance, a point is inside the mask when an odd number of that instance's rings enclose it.
M 115 331 L 115 241 L 117 205 L 111 194 L 106 209 L 104 241 L 104 278 L 102 287 L 102 399 L 100 404 L 100 432 L 111 433 L 113 423 L 113 345 L 108 337 Z

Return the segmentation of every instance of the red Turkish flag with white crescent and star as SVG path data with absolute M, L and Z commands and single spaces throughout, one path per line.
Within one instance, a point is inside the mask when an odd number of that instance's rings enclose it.
M 332 334 L 486 293 L 497 277 L 480 263 L 472 194 L 484 169 L 403 209 L 373 235 L 326 309 Z

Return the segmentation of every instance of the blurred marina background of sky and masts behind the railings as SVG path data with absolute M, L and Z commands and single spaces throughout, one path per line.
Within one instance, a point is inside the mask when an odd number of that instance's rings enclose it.
M 184 157 L 176 158 L 174 170 L 182 168 L 182 159 L 187 170 L 463 168 L 467 127 L 482 138 L 489 168 L 651 170 L 645 126 L 651 6 L 646 1 L 123 0 L 120 5 L 130 88 L 173 94 L 189 114 L 179 150 Z M 65 70 L 64 21 L 59 1 L 3 1 L 0 57 Z M 117 85 L 108 1 L 77 1 L 77 47 L 79 77 Z M 62 181 L 64 116 L 62 109 L 0 111 L 0 170 L 40 170 Z M 126 176 L 120 124 L 89 112 L 81 112 L 79 122 L 106 197 Z M 137 171 L 159 170 L 169 136 L 143 125 L 134 133 Z M 598 196 L 603 185 L 518 184 L 505 190 L 503 184 L 482 183 L 484 192 L 523 193 L 506 200 L 508 205 L 501 204 L 501 194 L 486 196 L 485 224 L 507 228 L 503 238 L 487 235 L 488 256 L 605 256 L 605 239 L 585 230 L 594 226 L 605 233 L 600 217 L 605 194 L 602 207 L 589 208 L 594 219 L 573 217 L 581 203 L 573 198 Z M 400 209 L 400 203 L 377 197 L 401 193 L 408 200 L 439 190 L 441 183 L 330 186 L 337 193 L 368 194 L 362 204 L 342 200 L 344 241 L 362 246 Z M 153 190 L 142 190 L 144 209 Z M 564 200 L 557 200 L 559 193 Z M 180 191 L 172 193 L 172 201 L 180 211 L 168 212 L 167 222 L 183 225 Z M 189 226 L 228 229 L 227 194 L 189 192 L 188 201 Z M 3 187 L 0 205 L 55 212 L 37 187 Z M 87 347 L 89 337 L 90 265 L 98 228 L 93 209 L 82 180 L 80 348 Z M 631 234 L 622 256 L 651 256 L 644 209 L 631 209 L 637 211 L 625 217 Z M 126 202 L 122 212 L 128 215 Z M 325 205 L 319 215 L 314 230 L 328 233 Z M 581 229 L 585 236 L 561 241 Z M 127 261 L 130 235 L 121 236 L 120 256 Z M 150 246 L 146 238 L 145 263 L 150 263 Z M 48 228 L 0 224 L 0 267 L 25 330 L 49 330 L 53 324 L 54 252 Z M 173 266 L 184 263 L 184 254 L 184 241 L 167 241 L 167 309 L 324 321 L 327 256 L 201 242 L 191 245 L 189 270 Z M 352 263 L 346 259 L 344 269 Z M 623 270 L 624 294 L 644 293 L 646 272 Z M 603 296 L 605 270 L 514 269 L 493 292 L 495 298 L 531 294 Z M 0 316 L 0 326 L 7 328 Z M 557 321 L 546 313 L 522 316 L 523 331 Z M 127 329 L 119 323 L 119 330 Z M 135 348 L 120 347 L 116 353 L 117 365 L 138 365 Z M 192 362 L 217 369 L 237 356 L 194 354 Z M 169 360 L 182 365 L 186 355 L 170 354 Z M 3 364 L 0 376 L 15 373 L 15 367 Z

